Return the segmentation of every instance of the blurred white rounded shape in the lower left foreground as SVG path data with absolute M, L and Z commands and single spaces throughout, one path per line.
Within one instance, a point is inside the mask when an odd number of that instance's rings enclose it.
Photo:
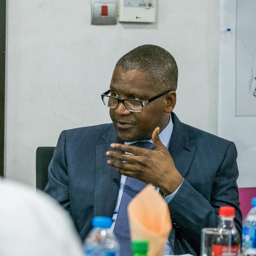
M 50 197 L 0 179 L 1 256 L 82 256 L 75 227 Z

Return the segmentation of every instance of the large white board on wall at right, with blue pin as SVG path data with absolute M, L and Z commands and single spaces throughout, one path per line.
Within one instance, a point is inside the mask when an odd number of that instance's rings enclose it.
M 256 187 L 255 10 L 253 0 L 220 2 L 218 135 L 237 146 L 239 187 Z

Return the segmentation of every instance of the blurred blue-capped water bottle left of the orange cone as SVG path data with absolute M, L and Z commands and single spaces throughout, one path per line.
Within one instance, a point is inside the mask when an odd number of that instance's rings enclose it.
M 86 256 L 119 256 L 119 243 L 110 230 L 112 219 L 94 217 L 92 229 L 84 241 Z

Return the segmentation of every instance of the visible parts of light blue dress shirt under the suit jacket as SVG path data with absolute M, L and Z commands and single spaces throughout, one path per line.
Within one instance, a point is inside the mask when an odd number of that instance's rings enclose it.
M 173 123 L 172 123 L 172 117 L 170 115 L 170 121 L 169 121 L 168 125 L 159 134 L 160 141 L 167 148 L 169 148 L 169 145 L 170 145 L 172 131 L 173 131 Z M 141 141 L 135 141 L 135 142 L 125 142 L 124 144 L 125 145 L 130 145 L 130 144 L 133 144 L 133 143 L 136 143 L 136 142 L 151 142 L 153 144 L 152 139 L 143 139 Z M 122 198 L 122 195 L 123 195 L 123 192 L 124 192 L 124 186 L 125 186 L 126 179 L 127 179 L 127 176 L 121 175 L 120 189 L 119 189 L 117 204 L 115 205 L 115 209 L 114 209 L 113 224 L 111 226 L 111 230 L 114 230 L 115 220 L 117 220 L 117 217 L 118 217 L 119 205 L 120 205 L 121 198 Z M 182 180 L 182 182 L 183 182 L 183 180 Z M 181 184 L 182 184 L 182 182 L 181 182 Z M 181 184 L 180 184 L 180 186 L 181 186 Z M 175 194 L 179 190 L 180 186 L 171 195 L 165 197 L 165 201 L 167 203 L 169 203 L 172 200 L 172 198 L 175 196 Z M 156 190 L 159 191 L 159 188 L 156 188 Z M 166 247 L 164 249 L 164 255 L 167 255 L 167 254 L 169 254 L 169 255 L 173 254 L 173 251 L 172 251 L 171 245 L 169 244 L 169 241 L 167 242 L 167 245 L 166 245 Z

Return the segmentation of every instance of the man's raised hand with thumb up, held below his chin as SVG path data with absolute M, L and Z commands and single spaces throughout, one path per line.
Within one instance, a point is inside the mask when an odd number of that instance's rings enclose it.
M 119 173 L 139 179 L 147 184 L 151 183 L 168 196 L 179 187 L 182 176 L 176 169 L 168 149 L 160 141 L 159 127 L 155 128 L 152 141 L 155 150 L 131 145 L 111 144 L 111 148 L 121 150 L 123 153 L 106 152 L 109 157 L 114 159 L 107 162 L 109 165 L 116 167 Z

